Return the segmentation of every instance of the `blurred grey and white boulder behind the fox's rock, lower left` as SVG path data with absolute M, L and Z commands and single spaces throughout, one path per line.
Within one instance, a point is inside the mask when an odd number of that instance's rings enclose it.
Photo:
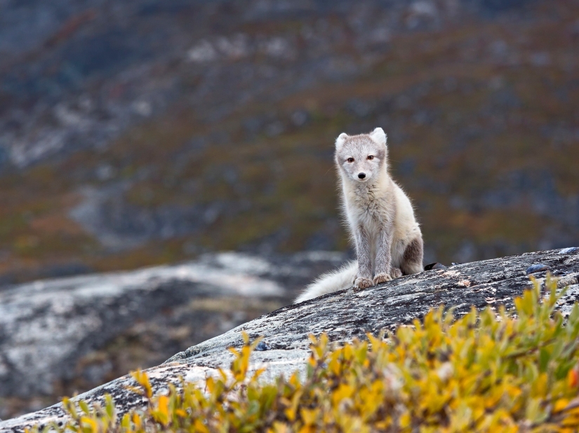
M 291 303 L 340 254 L 207 254 L 194 262 L 0 290 L 0 418 L 157 365 Z

